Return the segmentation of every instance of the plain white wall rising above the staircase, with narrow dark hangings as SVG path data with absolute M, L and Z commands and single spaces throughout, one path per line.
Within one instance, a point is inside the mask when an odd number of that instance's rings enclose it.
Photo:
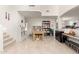
M 5 19 L 5 12 L 10 14 L 10 20 Z M 16 41 L 21 40 L 21 20 L 23 17 L 9 6 L 0 6 L 0 24 L 3 25 L 8 32 Z

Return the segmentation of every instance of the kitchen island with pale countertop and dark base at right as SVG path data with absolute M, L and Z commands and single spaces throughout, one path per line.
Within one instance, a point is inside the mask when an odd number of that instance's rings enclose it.
M 66 34 L 66 33 L 63 33 L 63 40 L 64 40 L 64 37 L 66 38 L 65 39 L 65 44 L 69 47 L 71 47 L 72 49 L 74 49 L 77 53 L 79 53 L 79 36 L 77 35 L 69 35 L 69 34 Z

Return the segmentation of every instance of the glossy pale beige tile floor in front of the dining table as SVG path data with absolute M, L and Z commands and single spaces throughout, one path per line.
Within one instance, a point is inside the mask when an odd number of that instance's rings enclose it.
M 46 37 L 39 41 L 26 39 L 7 47 L 3 53 L 75 54 L 76 52 L 65 44 L 54 40 L 53 37 Z

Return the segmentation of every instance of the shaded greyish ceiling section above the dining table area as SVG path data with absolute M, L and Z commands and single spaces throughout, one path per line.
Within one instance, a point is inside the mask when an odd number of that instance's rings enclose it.
M 19 11 L 19 13 L 24 16 L 25 18 L 31 17 L 31 18 L 53 18 L 57 19 L 57 16 L 42 16 L 40 11 Z

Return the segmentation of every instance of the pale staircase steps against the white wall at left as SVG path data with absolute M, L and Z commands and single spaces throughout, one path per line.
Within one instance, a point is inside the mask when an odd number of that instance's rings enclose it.
M 3 48 L 13 44 L 15 40 L 6 32 L 3 33 Z

